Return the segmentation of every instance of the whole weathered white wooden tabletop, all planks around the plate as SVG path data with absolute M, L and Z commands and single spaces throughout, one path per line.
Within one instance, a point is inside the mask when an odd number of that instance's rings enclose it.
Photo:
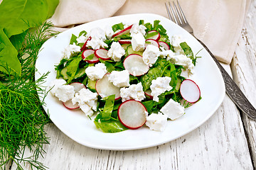
M 256 3 L 252 2 L 231 64 L 235 81 L 256 106 Z M 230 67 L 224 65 L 230 72 Z M 245 127 L 245 128 L 244 128 Z M 256 124 L 225 96 L 218 111 L 193 132 L 158 147 L 109 151 L 79 145 L 55 125 L 46 127 L 50 145 L 39 158 L 49 169 L 254 169 Z M 247 142 L 248 141 L 248 142 Z M 249 147 L 248 147 L 249 146 Z M 29 156 L 26 150 L 26 156 Z M 254 162 L 254 167 L 252 164 Z M 11 169 L 16 169 L 13 165 Z M 28 165 L 24 169 L 29 169 Z

